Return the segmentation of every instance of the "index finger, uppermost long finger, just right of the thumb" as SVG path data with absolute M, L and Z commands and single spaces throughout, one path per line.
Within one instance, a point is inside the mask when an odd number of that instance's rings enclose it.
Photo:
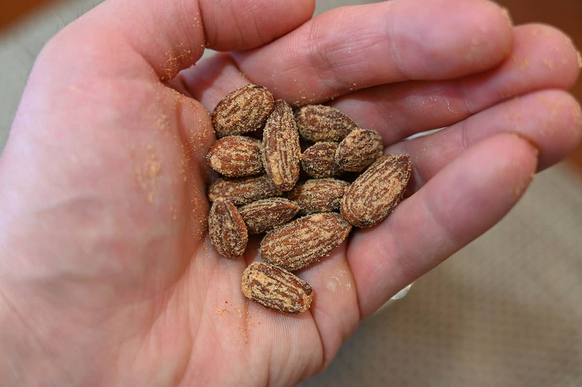
M 511 44 L 507 13 L 492 2 L 394 0 L 331 10 L 233 58 L 249 79 L 304 105 L 378 84 L 481 72 Z

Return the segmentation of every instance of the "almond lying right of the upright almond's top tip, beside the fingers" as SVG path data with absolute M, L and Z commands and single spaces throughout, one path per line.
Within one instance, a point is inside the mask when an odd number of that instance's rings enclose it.
M 307 105 L 295 113 L 299 133 L 306 140 L 342 141 L 352 130 L 357 129 L 356 123 L 336 108 L 325 105 Z

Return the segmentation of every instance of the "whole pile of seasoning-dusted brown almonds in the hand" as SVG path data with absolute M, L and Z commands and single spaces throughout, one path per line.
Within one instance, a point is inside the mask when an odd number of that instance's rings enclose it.
M 410 157 L 382 156 L 380 134 L 357 127 L 338 109 L 308 105 L 293 112 L 254 84 L 226 95 L 212 124 L 221 138 L 210 148 L 208 164 L 226 176 L 208 188 L 212 245 L 236 258 L 249 234 L 266 232 L 264 262 L 243 273 L 244 296 L 283 313 L 306 311 L 313 289 L 292 271 L 329 255 L 352 226 L 370 227 L 388 216 L 406 190 Z M 262 141 L 242 136 L 260 129 Z M 300 137 L 315 144 L 301 153 Z M 300 169 L 313 179 L 298 183 Z M 347 172 L 361 175 L 346 178 L 352 183 L 336 178 Z

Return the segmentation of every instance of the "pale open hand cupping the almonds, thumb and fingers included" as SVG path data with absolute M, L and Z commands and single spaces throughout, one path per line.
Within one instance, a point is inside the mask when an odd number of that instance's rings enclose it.
M 482 0 L 313 9 L 111 0 L 44 48 L 0 161 L 2 385 L 292 385 L 580 141 L 580 59 L 552 27 Z M 204 47 L 237 52 L 191 67 Z M 414 168 L 392 215 L 299 273 L 294 317 L 242 296 L 255 242 L 228 260 L 207 237 L 208 111 L 250 82 L 333 98 Z

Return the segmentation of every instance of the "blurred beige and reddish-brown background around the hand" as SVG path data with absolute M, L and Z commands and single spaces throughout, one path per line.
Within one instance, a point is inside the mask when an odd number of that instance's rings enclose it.
M 410 0 L 420 1 L 420 0 Z M 0 6 L 0 151 L 34 59 L 101 1 Z M 358 0 L 318 0 L 317 13 Z M 502 0 L 516 24 L 582 47 L 581 0 Z M 582 81 L 574 88 L 582 99 Z M 502 222 L 369 318 L 301 386 L 582 386 L 582 148 L 535 177 Z

